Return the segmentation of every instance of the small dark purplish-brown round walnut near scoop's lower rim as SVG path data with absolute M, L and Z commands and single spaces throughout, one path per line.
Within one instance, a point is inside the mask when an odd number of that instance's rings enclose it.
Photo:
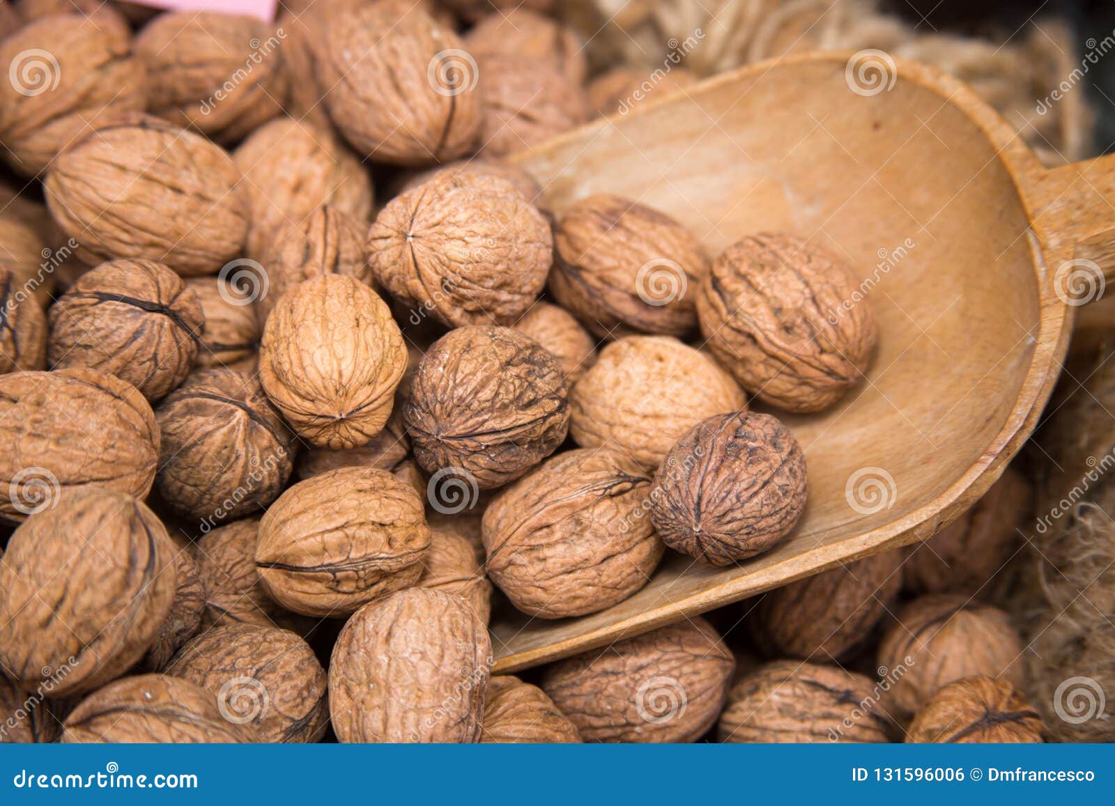
M 694 426 L 666 454 L 650 519 L 671 548 L 710 565 L 767 551 L 805 512 L 805 455 L 770 415 L 736 411 Z

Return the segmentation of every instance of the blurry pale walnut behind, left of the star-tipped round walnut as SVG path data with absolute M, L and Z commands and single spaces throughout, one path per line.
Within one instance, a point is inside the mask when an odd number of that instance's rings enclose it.
M 265 259 L 277 234 L 329 204 L 359 223 L 371 217 L 375 192 L 365 167 L 332 136 L 283 117 L 255 129 L 233 154 L 251 210 L 248 252 Z

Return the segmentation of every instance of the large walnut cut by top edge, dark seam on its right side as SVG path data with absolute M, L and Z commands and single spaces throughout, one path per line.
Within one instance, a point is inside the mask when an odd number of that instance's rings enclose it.
M 392 3 L 361 3 L 331 11 L 314 70 L 330 119 L 362 156 L 428 165 L 476 145 L 476 62 L 452 28 L 421 9 L 400 14 Z

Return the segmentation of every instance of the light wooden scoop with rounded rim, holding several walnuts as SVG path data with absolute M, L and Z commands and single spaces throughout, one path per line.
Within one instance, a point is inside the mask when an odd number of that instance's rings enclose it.
M 1115 157 L 1046 169 L 967 86 L 880 51 L 750 66 L 636 103 L 520 163 L 559 215 L 609 192 L 676 216 L 714 255 L 762 231 L 846 255 L 880 344 L 836 407 L 782 416 L 809 470 L 789 537 L 728 569 L 668 553 L 646 587 L 591 615 L 497 618 L 497 671 L 929 537 L 1027 439 L 1075 305 L 1115 265 Z

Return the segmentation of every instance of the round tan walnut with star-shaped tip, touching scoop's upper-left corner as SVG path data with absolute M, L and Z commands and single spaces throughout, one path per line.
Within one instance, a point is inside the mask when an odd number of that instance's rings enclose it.
M 553 237 L 545 217 L 504 179 L 445 173 L 384 207 L 368 259 L 413 317 L 449 327 L 511 324 L 545 287 Z

